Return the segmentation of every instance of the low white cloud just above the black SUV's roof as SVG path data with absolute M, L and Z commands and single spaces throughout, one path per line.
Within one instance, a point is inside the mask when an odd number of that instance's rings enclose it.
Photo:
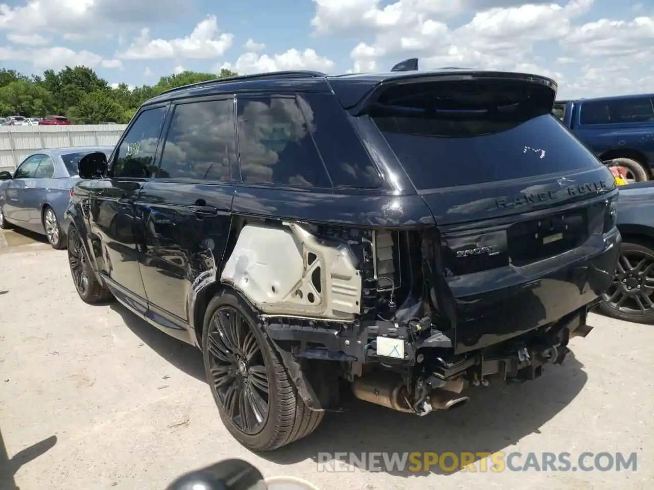
M 329 72 L 334 68 L 334 61 L 319 56 L 313 49 L 298 51 L 290 49 L 282 54 L 258 55 L 254 52 L 242 54 L 235 63 L 216 65 L 214 71 L 228 69 L 241 74 L 267 73 L 283 70 L 316 70 Z

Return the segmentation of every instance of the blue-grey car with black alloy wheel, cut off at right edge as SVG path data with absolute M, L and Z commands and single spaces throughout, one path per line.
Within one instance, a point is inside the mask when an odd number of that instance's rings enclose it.
M 600 310 L 613 318 L 654 321 L 654 182 L 620 188 L 617 227 L 623 237 L 613 284 Z

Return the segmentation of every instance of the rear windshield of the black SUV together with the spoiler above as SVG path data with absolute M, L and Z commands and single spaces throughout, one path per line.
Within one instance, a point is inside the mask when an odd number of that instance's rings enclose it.
M 407 84 L 382 94 L 370 116 L 418 189 L 601 165 L 551 114 L 554 95 L 508 80 Z

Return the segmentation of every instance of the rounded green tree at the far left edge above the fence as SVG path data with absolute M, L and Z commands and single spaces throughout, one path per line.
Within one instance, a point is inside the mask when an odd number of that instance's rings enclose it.
M 52 94 L 29 80 L 16 80 L 0 88 L 0 110 L 11 116 L 43 117 L 52 112 Z

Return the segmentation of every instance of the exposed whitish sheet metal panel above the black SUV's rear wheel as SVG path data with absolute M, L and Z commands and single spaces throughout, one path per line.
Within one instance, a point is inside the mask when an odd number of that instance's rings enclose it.
M 320 243 L 297 223 L 257 223 L 241 230 L 220 280 L 264 314 L 351 320 L 361 309 L 354 263 L 347 245 Z

